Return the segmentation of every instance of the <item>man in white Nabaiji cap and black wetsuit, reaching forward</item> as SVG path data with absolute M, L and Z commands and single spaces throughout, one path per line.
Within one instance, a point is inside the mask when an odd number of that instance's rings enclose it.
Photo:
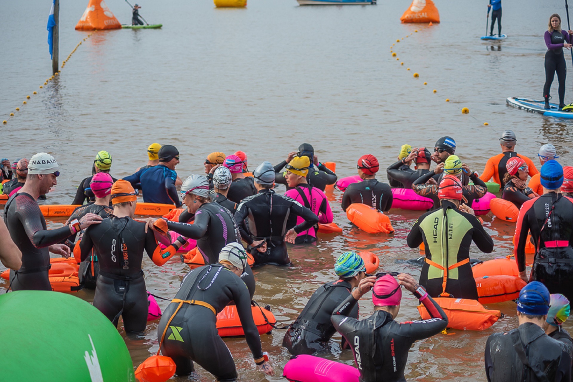
M 69 257 L 69 247 L 58 243 L 101 221 L 101 217 L 88 213 L 69 225 L 46 229 L 44 215 L 36 200 L 57 184 L 59 175 L 54 157 L 46 153 L 35 154 L 28 165 L 25 185 L 6 202 L 4 221 L 14 244 L 22 252 L 22 266 L 16 271 L 10 270 L 13 291 L 52 291 L 48 276 L 50 252 Z

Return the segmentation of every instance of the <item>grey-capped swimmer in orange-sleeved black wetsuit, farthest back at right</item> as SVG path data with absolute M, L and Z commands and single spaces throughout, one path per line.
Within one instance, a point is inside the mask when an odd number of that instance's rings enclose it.
M 531 159 L 515 152 L 516 144 L 517 139 L 515 137 L 515 133 L 513 133 L 512 130 L 505 130 L 501 134 L 501 154 L 497 154 L 496 156 L 488 159 L 485 164 L 484 172 L 482 172 L 480 176 L 482 181 L 488 182 L 493 178 L 493 181 L 499 184 L 500 189 L 503 190 L 505 186 L 504 177 L 505 174 L 507 174 L 507 161 L 514 157 L 519 157 L 523 159 L 525 163 L 527 163 L 529 168 L 529 176 L 534 176 L 535 174 L 539 173 Z

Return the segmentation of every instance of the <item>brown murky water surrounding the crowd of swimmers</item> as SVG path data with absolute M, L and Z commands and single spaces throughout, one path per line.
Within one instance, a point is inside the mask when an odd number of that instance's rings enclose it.
M 73 30 L 85 4 L 61 3 L 65 58 L 87 35 Z M 124 2 L 107 3 L 121 22 L 129 21 Z M 2 127 L 0 156 L 52 153 L 62 176 L 49 203 L 72 201 L 97 151 L 108 150 L 112 175 L 123 177 L 146 162 L 152 142 L 179 148 L 177 171 L 182 177 L 202 173 L 203 159 L 215 150 L 244 150 L 254 168 L 263 160 L 283 160 L 304 141 L 315 146 L 321 161 L 336 161 L 337 173 L 348 176 L 355 174 L 355 161 L 364 153 L 374 154 L 385 168 L 402 144 L 431 146 L 445 134 L 457 141 L 462 160 L 481 171 L 487 158 L 499 152 L 497 139 L 508 128 L 517 134 L 518 152 L 536 157 L 540 144 L 552 142 L 562 164 L 572 164 L 571 122 L 505 105 L 510 96 L 541 97 L 543 33 L 550 14 L 566 19 L 560 1 L 504 2 L 503 32 L 509 38 L 493 43 L 478 38 L 484 33 L 485 3 L 438 1 L 442 23 L 423 30 L 399 23 L 407 2 L 299 7 L 295 0 L 252 0 L 247 9 L 214 9 L 208 0 L 142 5 L 147 21 L 161 22 L 163 29 L 97 32 L 60 78 L 38 89 L 50 71 L 45 42 L 49 7 L 38 0 L 3 4 L 0 119 L 16 107 L 22 110 Z M 390 54 L 393 43 L 398 61 Z M 420 78 L 414 79 L 414 72 Z M 34 90 L 38 94 L 22 106 Z M 567 91 L 571 95 L 569 85 Z M 470 114 L 461 114 L 462 107 Z M 419 276 L 419 268 L 403 262 L 419 256 L 406 246 L 418 213 L 393 209 L 394 234 L 367 234 L 352 228 L 340 210 L 342 193 L 331 191 L 329 197 L 342 235 L 320 236 L 316 245 L 290 246 L 291 268 L 255 270 L 255 299 L 271 305 L 279 323 L 292 322 L 317 286 L 332 280 L 333 262 L 345 250 L 371 250 L 384 270 Z M 484 220 L 496 243 L 494 252 L 482 254 L 474 246 L 471 256 L 486 260 L 511 253 L 514 227 L 490 216 Z M 53 221 L 50 227 L 60 224 Z M 187 267 L 175 260 L 162 268 L 144 262 L 148 289 L 173 297 Z M 91 301 L 93 292 L 77 296 Z M 368 297 L 360 301 L 362 317 L 372 312 Z M 166 301 L 159 304 L 166 307 Z M 405 296 L 398 319 L 417 318 L 416 305 Z M 506 316 L 486 331 L 450 331 L 415 344 L 407 379 L 485 380 L 487 336 L 517 324 L 514 303 L 489 308 Z M 156 327 L 157 322 L 148 325 L 143 341 L 126 339 L 134 365 L 156 352 Z M 280 380 L 289 359 L 281 348 L 282 336 L 282 331 L 261 336 L 276 371 L 268 380 Z M 226 343 L 240 380 L 266 380 L 243 339 Z M 352 364 L 350 351 L 329 357 Z M 199 369 L 197 380 L 212 377 Z

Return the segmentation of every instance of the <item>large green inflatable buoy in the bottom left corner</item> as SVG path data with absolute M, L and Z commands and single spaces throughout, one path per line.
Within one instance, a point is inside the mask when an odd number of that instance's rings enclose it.
M 135 382 L 127 346 L 93 305 L 65 293 L 0 295 L 4 381 Z

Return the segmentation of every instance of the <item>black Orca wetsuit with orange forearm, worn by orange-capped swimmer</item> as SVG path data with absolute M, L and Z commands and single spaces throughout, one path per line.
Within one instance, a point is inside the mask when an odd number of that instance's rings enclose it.
M 80 241 L 82 261 L 92 248 L 100 264 L 93 306 L 116 326 L 121 315 L 126 332 L 143 332 L 148 312 L 143 251 L 156 265 L 163 265 L 175 254 L 174 246 L 162 250 L 154 231 L 145 232 L 145 223 L 111 215 L 85 230 Z

